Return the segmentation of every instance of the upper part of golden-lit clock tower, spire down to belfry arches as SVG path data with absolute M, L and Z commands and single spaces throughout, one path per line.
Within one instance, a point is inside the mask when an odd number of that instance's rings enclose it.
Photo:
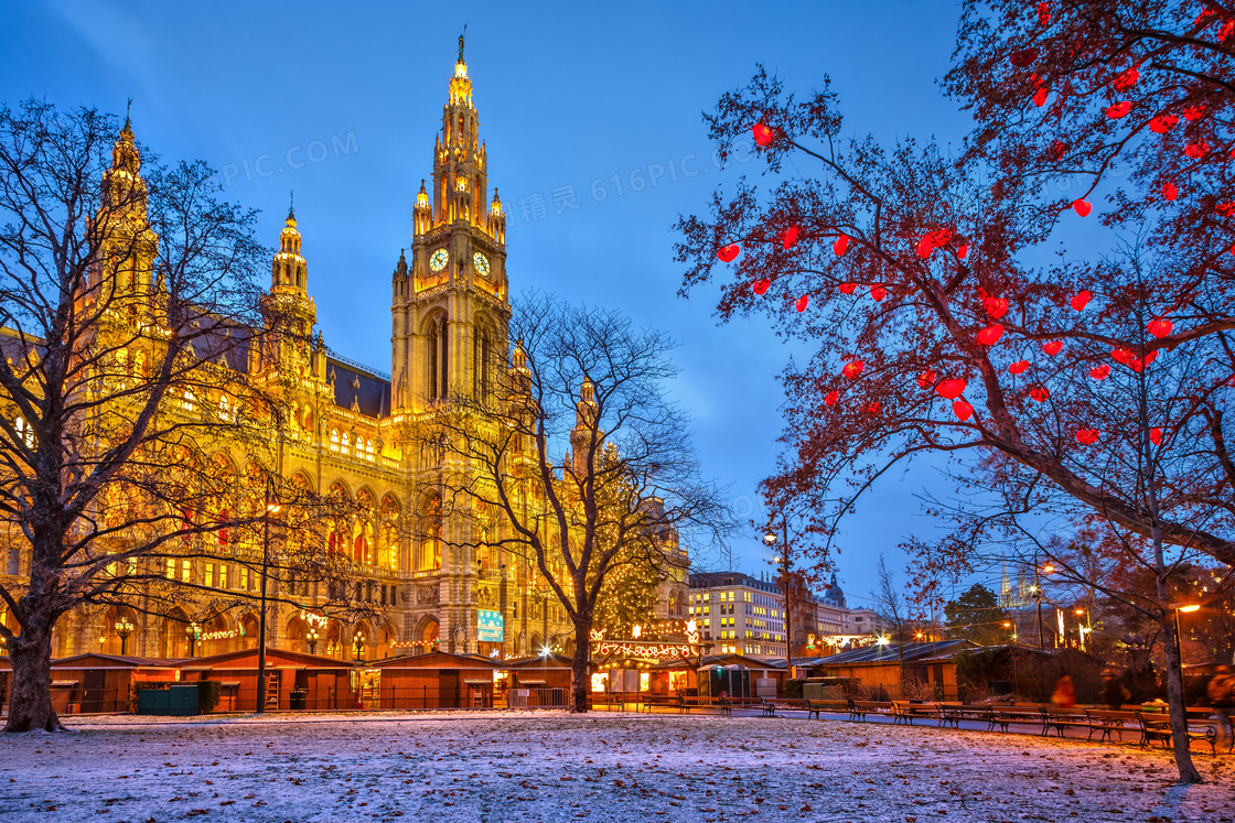
M 427 411 L 452 396 L 488 397 L 506 365 L 506 218 L 496 190 L 489 200 L 488 175 L 459 37 L 432 185 L 420 183 L 411 253 L 400 253 L 394 269 L 394 413 Z

